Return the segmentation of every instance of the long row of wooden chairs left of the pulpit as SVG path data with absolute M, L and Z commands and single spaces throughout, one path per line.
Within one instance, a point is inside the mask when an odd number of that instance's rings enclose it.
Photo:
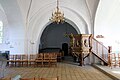
M 48 64 L 49 66 L 52 63 L 57 64 L 58 53 L 40 53 L 40 54 L 17 54 L 9 55 L 9 60 L 7 60 L 9 66 L 38 66 L 41 63 L 41 66 Z

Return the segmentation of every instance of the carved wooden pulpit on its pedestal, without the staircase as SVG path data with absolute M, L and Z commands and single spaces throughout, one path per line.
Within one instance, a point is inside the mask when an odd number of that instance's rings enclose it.
M 89 34 L 70 34 L 70 47 L 73 55 L 79 57 L 80 66 L 84 64 L 84 59 L 89 55 L 90 51 L 90 37 Z

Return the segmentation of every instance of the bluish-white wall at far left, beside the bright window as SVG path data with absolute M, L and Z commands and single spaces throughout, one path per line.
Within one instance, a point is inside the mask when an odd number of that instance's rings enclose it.
M 25 26 L 19 6 L 15 0 L 0 0 L 0 3 L 0 16 L 4 25 L 4 39 L 0 49 L 9 50 L 11 54 L 24 53 Z

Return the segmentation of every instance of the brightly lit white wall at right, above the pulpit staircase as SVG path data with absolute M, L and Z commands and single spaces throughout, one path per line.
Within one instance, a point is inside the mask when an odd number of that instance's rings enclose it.
M 95 19 L 95 36 L 105 46 L 112 46 L 113 51 L 120 52 L 120 0 L 101 0 Z

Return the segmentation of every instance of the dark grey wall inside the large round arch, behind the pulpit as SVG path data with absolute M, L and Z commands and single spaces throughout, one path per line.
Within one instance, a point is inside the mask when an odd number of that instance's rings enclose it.
M 40 39 L 41 49 L 44 49 L 44 48 L 62 49 L 63 43 L 66 43 L 69 46 L 70 40 L 69 40 L 69 37 L 65 36 L 66 33 L 67 34 L 70 34 L 70 33 L 78 34 L 76 29 L 67 22 L 60 23 L 60 24 L 55 24 L 55 23 L 49 24 L 44 29 L 41 39 Z

